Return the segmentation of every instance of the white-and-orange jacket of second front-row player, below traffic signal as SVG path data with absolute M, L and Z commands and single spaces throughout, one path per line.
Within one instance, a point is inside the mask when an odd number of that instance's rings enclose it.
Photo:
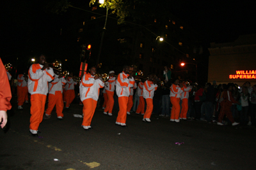
M 84 101 L 85 99 L 93 99 L 98 101 L 100 88 L 103 87 L 104 83 L 103 81 L 99 80 L 99 78 L 94 80 L 94 76 L 92 76 L 92 74 L 84 74 L 79 89 L 81 101 Z

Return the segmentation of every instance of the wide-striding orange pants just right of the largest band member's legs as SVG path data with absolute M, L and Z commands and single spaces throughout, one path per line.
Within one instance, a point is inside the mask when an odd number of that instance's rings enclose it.
M 62 96 L 61 91 L 56 91 L 55 95 L 54 94 L 49 94 L 49 96 L 48 96 L 48 108 L 47 108 L 45 114 L 51 115 L 55 104 L 56 104 L 57 116 L 58 117 L 63 117 L 62 111 L 63 111 L 64 104 L 63 104 L 63 96 Z

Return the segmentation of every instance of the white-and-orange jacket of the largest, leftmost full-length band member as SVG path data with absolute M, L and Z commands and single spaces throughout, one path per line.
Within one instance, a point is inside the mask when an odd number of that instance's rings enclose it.
M 42 70 L 42 65 L 32 64 L 28 71 L 28 92 L 32 94 L 48 93 L 48 82 L 54 80 L 54 72 L 50 67 L 49 69 Z

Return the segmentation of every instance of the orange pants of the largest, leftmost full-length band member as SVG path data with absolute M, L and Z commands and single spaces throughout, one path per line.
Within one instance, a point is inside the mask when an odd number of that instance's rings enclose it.
M 30 125 L 29 129 L 38 130 L 39 124 L 42 122 L 44 117 L 44 106 L 46 101 L 46 95 L 44 94 L 32 94 L 30 98 Z

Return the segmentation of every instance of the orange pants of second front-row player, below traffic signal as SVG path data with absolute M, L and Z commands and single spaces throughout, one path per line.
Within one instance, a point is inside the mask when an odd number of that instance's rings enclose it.
M 83 101 L 83 104 L 84 104 L 84 107 L 83 107 L 84 118 L 83 118 L 82 125 L 89 126 L 91 125 L 91 122 L 92 122 L 92 117 L 94 115 L 94 112 L 97 106 L 97 101 L 93 99 L 85 99 Z

